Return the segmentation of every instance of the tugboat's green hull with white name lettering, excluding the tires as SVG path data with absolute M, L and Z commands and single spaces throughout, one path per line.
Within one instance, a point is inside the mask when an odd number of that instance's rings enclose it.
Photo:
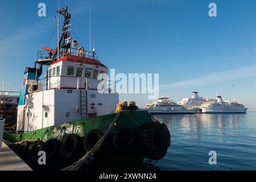
M 101 130 L 102 133 L 105 133 L 110 124 L 113 122 L 116 114 L 117 113 L 113 113 L 99 117 L 81 119 L 78 121 L 50 126 L 23 134 L 14 134 L 5 131 L 3 134 L 3 139 L 13 143 L 26 139 L 40 139 L 43 142 L 46 142 L 52 138 L 61 141 L 68 134 L 76 134 L 79 137 L 84 137 L 86 133 L 93 129 L 98 129 Z M 112 133 L 117 132 L 123 127 L 136 130 L 150 122 L 153 121 L 147 111 L 123 111 L 118 118 L 118 125 L 114 126 L 112 129 Z M 135 150 L 129 152 L 101 151 L 98 152 L 94 158 L 96 160 L 92 164 L 85 164 L 83 169 L 138 170 L 142 169 L 144 159 L 144 157 L 140 154 L 140 152 L 136 150 L 136 148 Z M 26 159 L 24 159 L 24 161 L 26 162 Z

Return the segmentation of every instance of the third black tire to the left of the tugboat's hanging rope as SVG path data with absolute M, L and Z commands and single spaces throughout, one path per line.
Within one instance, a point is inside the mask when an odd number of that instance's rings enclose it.
M 46 159 L 55 160 L 60 156 L 60 141 L 57 139 L 49 139 L 40 148 L 40 151 L 46 152 Z

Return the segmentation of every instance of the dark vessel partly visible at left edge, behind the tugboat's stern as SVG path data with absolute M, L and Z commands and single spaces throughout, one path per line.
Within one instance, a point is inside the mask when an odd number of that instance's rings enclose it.
M 0 119 L 5 119 L 5 129 L 15 130 L 20 92 L 0 91 Z

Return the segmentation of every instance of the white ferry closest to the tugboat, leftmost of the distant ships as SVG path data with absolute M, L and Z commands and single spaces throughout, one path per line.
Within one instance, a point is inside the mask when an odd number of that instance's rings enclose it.
M 198 109 L 186 109 L 183 105 L 179 105 L 174 101 L 170 101 L 169 97 L 159 97 L 158 101 L 150 102 L 145 106 L 150 114 L 195 114 Z

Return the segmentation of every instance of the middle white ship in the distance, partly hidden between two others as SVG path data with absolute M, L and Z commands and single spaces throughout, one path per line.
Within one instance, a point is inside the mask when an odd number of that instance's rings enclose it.
M 192 92 L 193 95 L 191 98 L 183 98 L 180 102 L 177 102 L 179 105 L 183 105 L 187 109 L 195 109 L 199 108 L 201 104 L 206 102 L 207 100 L 203 97 L 199 97 L 198 92 Z

